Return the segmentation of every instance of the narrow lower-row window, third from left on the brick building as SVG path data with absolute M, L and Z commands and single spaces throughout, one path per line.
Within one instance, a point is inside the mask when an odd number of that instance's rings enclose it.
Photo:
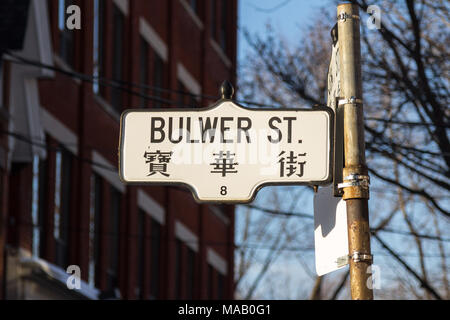
M 100 218 L 102 211 L 102 180 L 91 176 L 91 203 L 89 212 L 89 285 L 98 287 L 98 262 L 100 250 Z

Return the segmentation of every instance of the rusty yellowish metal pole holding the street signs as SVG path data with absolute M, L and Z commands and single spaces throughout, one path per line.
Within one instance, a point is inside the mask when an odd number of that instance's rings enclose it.
M 359 9 L 354 4 L 337 7 L 341 97 L 344 108 L 343 199 L 347 205 L 350 288 L 353 300 L 372 300 L 372 264 L 369 229 L 369 176 L 364 145 Z

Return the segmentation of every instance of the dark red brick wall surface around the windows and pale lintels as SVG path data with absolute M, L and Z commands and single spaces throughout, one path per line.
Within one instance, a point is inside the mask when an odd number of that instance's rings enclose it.
M 219 1 L 218 1 L 219 2 Z M 55 53 L 55 65 L 59 68 L 69 68 L 84 74 L 93 74 L 93 0 L 75 0 L 82 12 L 82 28 L 74 30 L 75 59 L 72 66 L 67 66 L 59 57 L 61 45 L 60 31 L 57 25 L 58 1 L 49 0 L 50 26 L 52 35 L 52 48 Z M 220 46 L 214 43 L 211 35 L 211 2 L 200 0 L 198 13 L 193 17 L 186 8 L 188 1 L 184 0 L 145 0 L 124 1 L 105 0 L 104 9 L 104 69 L 103 76 L 112 78 L 113 70 L 113 8 L 117 3 L 127 6 L 124 15 L 124 41 L 123 41 L 123 81 L 139 83 L 140 67 L 140 20 L 145 19 L 167 49 L 167 61 L 164 63 L 164 87 L 178 89 L 178 64 L 181 63 L 188 73 L 201 87 L 204 95 L 217 95 L 220 83 L 225 79 L 235 81 L 236 68 L 236 24 L 237 1 L 227 0 L 228 38 L 227 50 L 221 52 Z M 120 7 L 120 6 L 119 6 Z M 152 49 L 152 46 L 149 45 Z M 151 52 L 154 50 L 152 49 Z M 149 59 L 153 53 L 149 55 Z M 149 85 L 152 85 L 152 61 L 149 61 Z M 99 233 L 99 251 L 97 287 L 108 289 L 107 270 L 110 261 L 110 234 L 111 230 L 111 186 L 117 183 L 116 173 L 105 173 L 95 164 L 91 163 L 94 153 L 110 166 L 117 167 L 117 147 L 119 137 L 119 113 L 111 108 L 111 88 L 105 88 L 99 98 L 93 93 L 92 84 L 79 79 L 73 79 L 56 72 L 54 78 L 39 80 L 39 97 L 42 108 L 51 115 L 54 122 L 63 125 L 73 134 L 76 141 L 76 150 L 72 151 L 72 167 L 70 179 L 70 226 L 69 226 L 69 256 L 70 264 L 78 264 L 82 270 L 82 278 L 88 281 L 89 273 L 89 227 L 91 203 L 91 176 L 96 173 L 102 181 L 101 212 Z M 139 90 L 128 87 L 129 90 Z M 164 93 L 163 98 L 176 101 L 175 93 Z M 207 106 L 206 99 L 199 104 Z M 123 93 L 123 106 L 137 107 L 140 98 L 132 94 Z M 150 104 L 152 105 L 152 104 Z M 124 110 L 123 109 L 123 110 Z M 47 130 L 48 131 L 48 130 Z M 63 130 L 64 131 L 64 130 Z M 64 131 L 65 132 L 65 131 Z M 70 136 L 70 135 L 69 135 Z M 46 173 L 46 218 L 40 225 L 46 230 L 41 238 L 41 258 L 55 262 L 54 229 L 55 211 L 55 166 L 56 151 L 59 144 L 64 143 L 64 137 L 54 136 L 47 132 L 47 173 Z M 9 190 L 9 218 L 23 224 L 8 225 L 8 243 L 32 250 L 32 228 L 27 226 L 31 221 L 31 181 L 32 165 L 15 164 L 9 173 L 5 185 Z M 114 177 L 112 177 L 112 175 Z M 140 190 L 140 191 L 139 191 Z M 160 285 L 159 298 L 175 298 L 176 270 L 187 270 L 187 252 L 190 242 L 183 240 L 183 235 L 177 234 L 175 225 L 182 223 L 197 240 L 194 264 L 194 298 L 211 298 L 209 289 L 217 293 L 219 274 L 223 270 L 216 270 L 213 266 L 213 276 L 208 274 L 211 262 L 208 261 L 208 250 L 214 252 L 226 263 L 224 275 L 223 297 L 233 297 L 233 239 L 234 239 L 234 208 L 228 206 L 223 210 L 226 219 L 220 219 L 209 206 L 195 203 L 190 192 L 166 187 L 136 187 L 127 186 L 120 190 L 119 213 L 119 246 L 118 246 L 118 287 L 121 295 L 127 299 L 135 299 L 136 287 L 139 285 L 137 270 L 138 252 L 138 193 L 144 192 L 152 199 L 152 208 L 155 212 L 147 212 L 145 220 L 144 243 L 144 296 L 148 296 L 151 288 L 151 250 L 152 247 L 152 214 L 163 212 L 164 223 L 161 226 L 160 247 Z M 152 211 L 153 209 L 147 209 Z M 183 229 L 184 230 L 184 229 Z M 188 232 L 188 234 L 189 234 Z M 182 263 L 176 267 L 176 242 L 181 240 Z M 1 269 L 0 269 L 1 271 Z M 182 297 L 188 292 L 186 273 L 181 278 Z M 210 278 L 213 283 L 210 284 Z M 209 289 L 208 289 L 209 288 Z M 213 297 L 219 297 L 217 293 Z

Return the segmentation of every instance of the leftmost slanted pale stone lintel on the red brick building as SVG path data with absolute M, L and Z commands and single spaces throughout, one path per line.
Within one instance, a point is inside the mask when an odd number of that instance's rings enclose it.
M 44 107 L 41 107 L 41 121 L 44 130 L 47 131 L 52 138 L 67 145 L 72 153 L 78 153 L 78 137 L 69 128 L 67 128 L 61 121 L 56 119 Z

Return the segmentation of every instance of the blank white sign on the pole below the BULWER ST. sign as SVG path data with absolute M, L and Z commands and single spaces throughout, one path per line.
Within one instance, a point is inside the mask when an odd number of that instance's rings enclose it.
M 343 268 L 348 260 L 347 207 L 333 196 L 333 186 L 314 194 L 316 272 L 321 276 Z

